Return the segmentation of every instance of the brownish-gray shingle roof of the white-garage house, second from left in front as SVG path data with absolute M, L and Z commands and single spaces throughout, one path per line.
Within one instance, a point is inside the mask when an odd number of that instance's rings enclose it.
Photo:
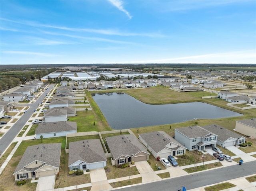
M 102 145 L 99 139 L 81 140 L 69 143 L 68 165 L 76 161 L 94 163 L 106 161 Z

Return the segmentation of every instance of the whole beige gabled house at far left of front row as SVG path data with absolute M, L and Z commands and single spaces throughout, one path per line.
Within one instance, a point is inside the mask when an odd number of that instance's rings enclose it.
M 56 175 L 60 154 L 61 143 L 28 146 L 13 173 L 15 181 Z

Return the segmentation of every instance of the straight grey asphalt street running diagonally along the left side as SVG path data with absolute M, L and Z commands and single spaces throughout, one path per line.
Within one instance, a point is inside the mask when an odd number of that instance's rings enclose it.
M 28 122 L 29 118 L 34 114 L 34 109 L 37 109 L 44 97 L 51 91 L 54 85 L 50 85 L 46 91 L 34 102 L 31 104 L 22 104 L 22 106 L 29 106 L 26 114 L 23 114 L 20 119 L 16 121 L 16 123 L 2 136 L 0 139 L 0 155 L 9 147 L 12 140 L 19 134 L 20 130 L 24 127 L 24 125 Z M 16 105 L 20 106 L 20 105 Z M 7 123 L 8 124 L 8 123 Z

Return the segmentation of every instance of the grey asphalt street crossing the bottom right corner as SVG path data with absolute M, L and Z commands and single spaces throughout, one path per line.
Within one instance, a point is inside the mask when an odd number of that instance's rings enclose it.
M 203 187 L 256 173 L 256 161 L 242 165 L 231 165 L 218 169 L 202 171 L 172 179 L 117 189 L 122 191 L 178 191 L 184 186 L 186 190 Z M 131 180 L 132 181 L 132 180 Z

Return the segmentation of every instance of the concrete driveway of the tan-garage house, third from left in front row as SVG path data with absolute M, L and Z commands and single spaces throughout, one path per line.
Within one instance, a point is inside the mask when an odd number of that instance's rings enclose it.
M 142 182 L 149 182 L 160 180 L 161 178 L 156 175 L 151 166 L 148 164 L 148 161 L 139 161 L 135 163 L 136 168 L 138 169 Z

